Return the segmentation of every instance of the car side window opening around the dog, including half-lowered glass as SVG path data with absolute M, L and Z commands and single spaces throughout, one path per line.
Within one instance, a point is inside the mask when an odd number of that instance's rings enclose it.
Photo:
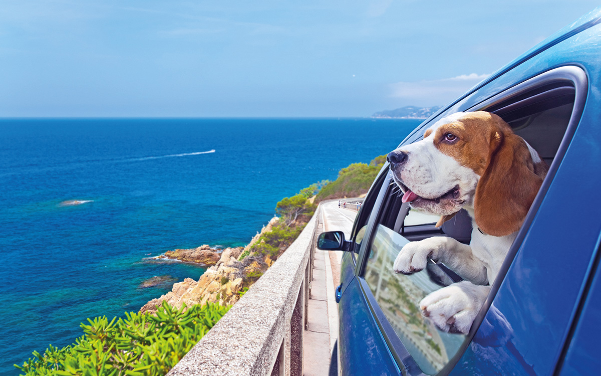
M 566 84 L 566 81 L 542 82 L 519 94 L 495 102 L 489 100 L 488 105 L 484 103 L 477 109 L 501 116 L 551 165 L 572 117 L 575 92 L 574 85 Z M 435 227 L 438 217 L 412 211 L 407 203 L 401 202 L 401 196 L 398 186 L 394 183 L 388 185 L 370 235 L 371 241 L 367 242 L 371 248 L 364 257 L 362 275 L 379 309 L 403 343 L 404 350 L 422 372 L 433 375 L 452 360 L 459 359 L 466 336 L 445 333 L 436 328 L 421 315 L 418 303 L 430 292 L 462 279 L 446 265 L 433 260 L 425 270 L 410 276 L 392 273 L 392 264 L 409 241 L 450 236 L 469 244 L 472 220 L 462 210 L 438 229 Z M 513 256 L 510 254 L 508 257 Z

